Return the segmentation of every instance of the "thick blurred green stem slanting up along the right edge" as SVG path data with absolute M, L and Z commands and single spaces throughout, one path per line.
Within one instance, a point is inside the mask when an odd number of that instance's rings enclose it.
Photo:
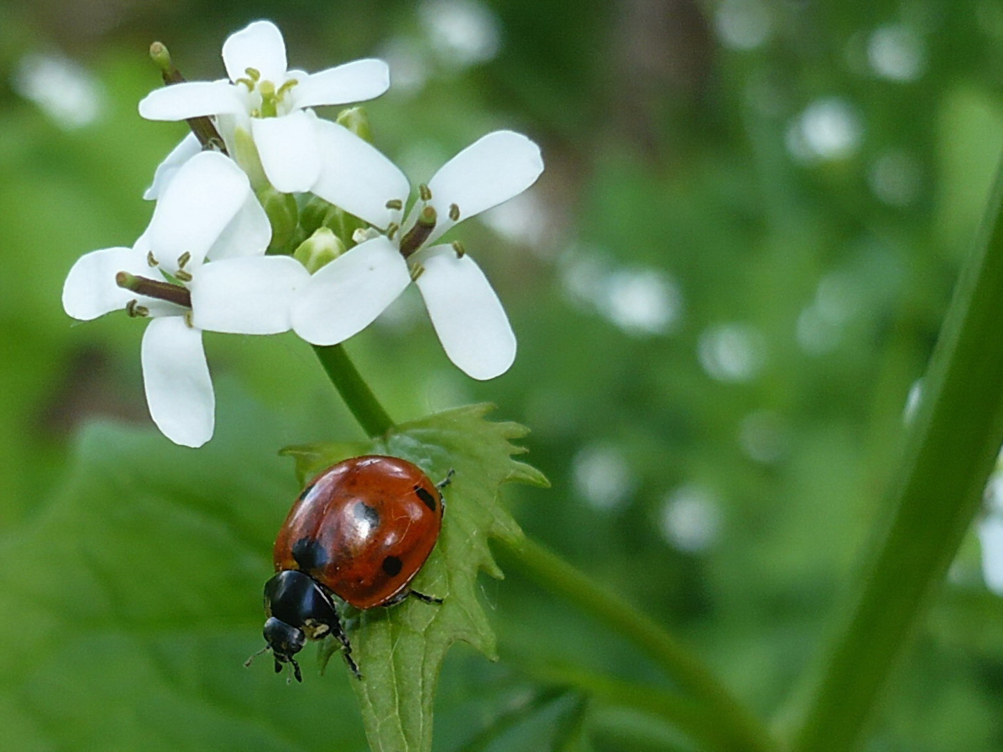
M 888 494 L 890 523 L 807 695 L 797 752 L 846 752 L 861 744 L 897 659 L 979 510 L 1003 440 L 1001 209 L 1003 179 L 997 178 Z

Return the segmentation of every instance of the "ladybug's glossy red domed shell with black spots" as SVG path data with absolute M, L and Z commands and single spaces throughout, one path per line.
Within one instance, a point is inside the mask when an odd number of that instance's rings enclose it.
M 396 457 L 353 457 L 317 475 L 275 541 L 275 570 L 300 570 L 358 609 L 406 593 L 442 524 L 442 494 Z

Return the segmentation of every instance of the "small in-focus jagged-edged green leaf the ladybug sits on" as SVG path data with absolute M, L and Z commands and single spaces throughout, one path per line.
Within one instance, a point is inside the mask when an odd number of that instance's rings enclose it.
M 357 444 L 291 447 L 306 477 L 359 453 L 402 457 L 433 480 L 453 470 L 444 490 L 442 532 L 415 578 L 415 590 L 442 599 L 439 606 L 409 599 L 389 609 L 357 613 L 350 630 L 363 679 L 355 682 L 369 744 L 375 752 L 431 749 L 432 704 L 442 659 L 458 640 L 495 657 L 494 633 L 477 598 L 477 573 L 500 578 L 487 541 L 523 533 L 500 505 L 503 483 L 547 485 L 536 468 L 512 458 L 525 449 L 512 443 L 527 429 L 484 419 L 490 405 L 470 405 L 397 426 L 388 436 Z

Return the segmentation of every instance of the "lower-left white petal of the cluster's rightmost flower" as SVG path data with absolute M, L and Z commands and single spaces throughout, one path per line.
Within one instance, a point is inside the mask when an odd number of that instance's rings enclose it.
M 293 304 L 293 329 L 336 345 L 365 329 L 411 281 L 407 262 L 382 236 L 359 244 L 310 278 Z

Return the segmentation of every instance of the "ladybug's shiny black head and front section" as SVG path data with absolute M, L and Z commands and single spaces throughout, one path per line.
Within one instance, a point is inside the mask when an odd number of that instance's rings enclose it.
M 307 640 L 340 634 L 338 614 L 331 599 L 309 575 L 296 570 L 280 572 L 265 584 L 266 650 L 275 657 L 275 673 L 292 664 L 296 681 L 302 682 L 300 666 L 293 656 Z

